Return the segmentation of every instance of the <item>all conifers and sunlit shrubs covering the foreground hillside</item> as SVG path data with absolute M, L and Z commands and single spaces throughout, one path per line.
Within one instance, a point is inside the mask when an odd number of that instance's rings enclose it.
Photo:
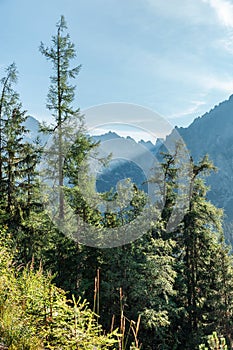
M 86 134 L 85 117 L 74 107 L 80 66 L 72 66 L 76 51 L 63 16 L 51 46 L 42 43 L 40 51 L 52 64 L 47 107 L 54 122 L 41 125 L 52 137 L 50 148 L 25 138 L 27 116 L 15 90 L 16 65 L 6 68 L 1 79 L 2 348 L 231 349 L 232 256 L 224 240 L 223 212 L 207 200 L 205 185 L 214 165 L 207 156 L 198 162 L 190 158 L 189 187 L 182 192 L 181 145 L 161 154 L 162 172 L 155 169 L 149 180 L 161 189 L 163 206 L 152 204 L 146 229 L 140 218 L 148 208 L 147 194 L 135 185 L 126 207 L 120 206 L 124 188 L 100 195 L 109 204 L 104 209 L 88 201 L 82 185 L 90 195 L 93 184 L 85 160 L 96 154 L 98 143 Z M 46 186 L 56 192 L 52 216 Z M 184 194 L 186 208 L 177 206 Z M 114 201 L 120 202 L 117 211 Z M 75 215 L 76 239 L 67 234 L 68 207 Z M 171 227 L 174 212 L 181 219 Z M 125 227 L 136 229 L 137 239 L 105 248 L 81 244 L 80 222 L 94 227 L 100 243 L 105 234 Z

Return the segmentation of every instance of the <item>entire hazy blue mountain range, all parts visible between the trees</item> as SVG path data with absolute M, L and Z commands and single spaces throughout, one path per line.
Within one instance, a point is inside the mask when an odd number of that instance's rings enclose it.
M 26 121 L 26 127 L 30 130 L 27 139 L 35 139 L 39 132 L 39 122 L 35 118 L 29 117 Z M 171 135 L 167 137 L 167 140 L 172 138 L 173 133 L 176 132 L 185 141 L 195 161 L 198 161 L 205 154 L 209 154 L 209 158 L 218 168 L 217 173 L 212 173 L 207 178 L 207 184 L 211 188 L 209 198 L 216 206 L 224 208 L 227 220 L 233 221 L 233 95 L 202 117 L 196 118 L 187 128 L 176 127 Z M 40 138 L 43 142 L 46 142 L 47 136 L 40 135 Z M 160 150 L 162 140 L 158 139 L 154 145 L 150 141 L 141 140 L 136 142 L 130 137 L 125 139 L 114 132 L 93 136 L 93 138 L 105 144 L 107 149 L 110 145 L 113 145 L 113 149 L 110 147 L 109 152 L 116 152 L 115 159 L 110 163 L 110 167 L 103 169 L 97 177 L 98 191 L 108 191 L 111 187 L 116 186 L 117 181 L 127 177 L 131 178 L 137 186 L 147 191 L 145 163 L 143 163 L 143 169 L 139 166 L 143 162 L 141 150 L 145 152 L 145 159 L 148 158 L 149 153 L 156 156 Z M 111 142 L 108 143 L 110 140 Z M 113 140 L 115 143 L 112 142 Z M 117 140 L 120 142 L 117 142 Z M 117 148 L 119 147 L 124 155 L 123 157 L 117 156 L 119 153 Z M 147 170 L 149 166 L 148 164 Z

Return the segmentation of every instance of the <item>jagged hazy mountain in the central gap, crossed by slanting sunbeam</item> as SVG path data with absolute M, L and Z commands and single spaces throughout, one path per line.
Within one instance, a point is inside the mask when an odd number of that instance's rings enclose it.
M 93 139 L 101 142 L 101 155 L 112 155 L 108 166 L 102 167 L 101 172 L 97 174 L 98 192 L 116 189 L 118 181 L 126 178 L 130 178 L 139 189 L 148 192 L 148 174 L 161 145 L 160 139 L 154 145 L 150 141 L 136 142 L 130 136 L 121 137 L 111 131 L 104 135 L 93 136 Z

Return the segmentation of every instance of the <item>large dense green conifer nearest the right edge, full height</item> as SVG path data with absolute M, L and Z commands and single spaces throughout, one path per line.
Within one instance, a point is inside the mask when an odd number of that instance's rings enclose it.
M 214 166 L 208 157 L 197 165 L 191 159 L 191 166 L 189 208 L 171 233 L 177 273 L 171 329 L 183 349 L 195 348 L 214 330 L 231 339 L 232 259 L 223 240 L 222 211 L 207 200 L 203 181 Z

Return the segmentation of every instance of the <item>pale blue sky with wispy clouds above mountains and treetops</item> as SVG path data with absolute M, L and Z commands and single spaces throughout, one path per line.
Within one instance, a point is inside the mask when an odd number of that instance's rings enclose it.
M 0 77 L 14 61 L 16 90 L 39 120 L 51 120 L 52 68 L 38 48 L 61 15 L 72 64 L 82 65 L 75 106 L 84 113 L 135 104 L 187 127 L 233 93 L 233 0 L 0 0 L 0 13 Z

